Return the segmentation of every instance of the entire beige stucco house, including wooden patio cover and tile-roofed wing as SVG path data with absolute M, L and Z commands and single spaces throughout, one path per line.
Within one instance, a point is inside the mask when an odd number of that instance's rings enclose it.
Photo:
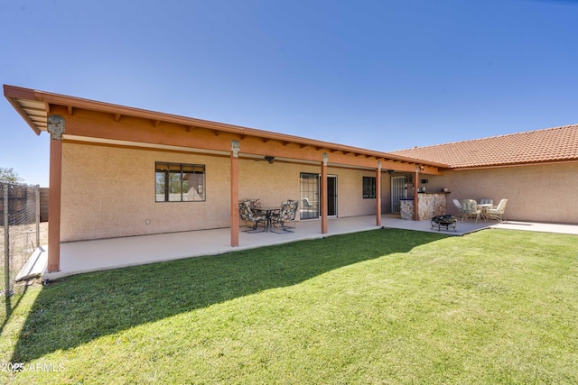
M 578 126 L 387 153 L 23 87 L 4 93 L 34 133 L 51 135 L 49 271 L 71 241 L 230 228 L 237 246 L 243 198 L 298 200 L 297 220 L 319 221 L 322 234 L 331 216 L 375 215 L 380 225 L 422 187 L 448 188 L 450 211 L 452 198 L 508 197 L 511 219 L 578 215 Z

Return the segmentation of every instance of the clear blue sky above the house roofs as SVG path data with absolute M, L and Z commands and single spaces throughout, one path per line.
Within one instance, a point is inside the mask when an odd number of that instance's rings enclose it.
M 0 81 L 378 151 L 578 124 L 578 2 L 0 0 Z M 0 167 L 48 186 L 2 98 Z

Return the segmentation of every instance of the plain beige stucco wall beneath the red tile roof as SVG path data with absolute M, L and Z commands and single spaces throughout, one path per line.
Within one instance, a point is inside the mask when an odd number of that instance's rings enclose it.
M 578 163 L 561 163 L 486 170 L 445 171 L 424 177 L 426 191 L 449 188 L 447 207 L 455 214 L 452 199 L 491 198 L 494 205 L 508 198 L 506 217 L 530 222 L 578 223 Z

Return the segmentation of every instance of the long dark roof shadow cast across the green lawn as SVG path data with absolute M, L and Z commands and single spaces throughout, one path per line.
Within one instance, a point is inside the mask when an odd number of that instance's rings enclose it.
M 136 325 L 294 285 L 444 237 L 382 229 L 69 277 L 42 289 L 12 362 L 28 362 Z

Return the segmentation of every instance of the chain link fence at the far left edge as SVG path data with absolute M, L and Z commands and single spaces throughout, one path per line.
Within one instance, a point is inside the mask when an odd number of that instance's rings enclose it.
M 0 182 L 0 284 L 6 297 L 41 236 L 40 188 Z

